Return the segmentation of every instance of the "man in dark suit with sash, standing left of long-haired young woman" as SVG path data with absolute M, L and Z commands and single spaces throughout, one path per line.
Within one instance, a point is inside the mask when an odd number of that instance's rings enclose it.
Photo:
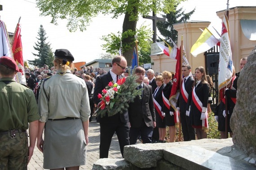
M 184 141 L 189 141 L 189 140 L 195 140 L 194 128 L 189 122 L 189 117 L 186 116 L 186 106 L 188 102 L 188 96 L 192 93 L 194 79 L 190 75 L 190 72 L 191 72 L 190 65 L 183 65 L 181 70 L 182 70 L 182 75 L 184 76 L 184 79 L 181 84 L 182 89 L 181 89 L 180 97 L 177 102 L 177 109 L 180 112 L 183 139 Z

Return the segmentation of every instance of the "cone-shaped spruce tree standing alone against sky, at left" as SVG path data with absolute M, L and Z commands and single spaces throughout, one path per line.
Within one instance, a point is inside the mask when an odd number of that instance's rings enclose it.
M 38 41 L 35 43 L 34 49 L 38 51 L 38 54 L 32 53 L 35 55 L 35 60 L 28 60 L 29 64 L 33 64 L 34 66 L 43 66 L 44 64 L 48 65 L 49 68 L 53 66 L 53 52 L 51 45 L 46 42 L 46 32 L 44 30 L 44 27 L 40 25 L 39 31 L 38 31 Z

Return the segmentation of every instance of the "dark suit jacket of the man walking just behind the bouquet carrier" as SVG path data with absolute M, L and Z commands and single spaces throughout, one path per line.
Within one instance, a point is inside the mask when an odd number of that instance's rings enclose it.
M 129 104 L 131 127 L 141 127 L 142 119 L 146 126 L 153 127 L 153 121 L 155 121 L 152 87 L 143 83 L 143 88 L 142 100 L 137 96 L 134 102 Z

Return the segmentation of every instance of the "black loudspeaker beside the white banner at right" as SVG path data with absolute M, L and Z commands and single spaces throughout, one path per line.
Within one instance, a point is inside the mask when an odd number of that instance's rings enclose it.
M 207 68 L 208 68 L 208 75 L 211 74 L 218 74 L 219 70 L 219 54 L 208 54 L 206 56 L 207 59 Z

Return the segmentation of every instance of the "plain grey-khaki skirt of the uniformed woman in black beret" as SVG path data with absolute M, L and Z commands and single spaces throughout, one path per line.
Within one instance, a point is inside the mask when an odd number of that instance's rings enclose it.
M 44 169 L 85 165 L 86 141 L 81 119 L 47 121 L 43 149 Z

